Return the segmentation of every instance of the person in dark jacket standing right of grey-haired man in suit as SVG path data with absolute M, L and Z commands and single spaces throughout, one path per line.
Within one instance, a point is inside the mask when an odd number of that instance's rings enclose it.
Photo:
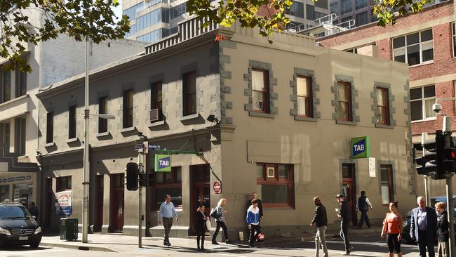
M 444 202 L 436 203 L 437 210 L 437 253 L 438 257 L 449 257 L 450 248 L 448 239 L 450 235 L 450 228 L 448 227 L 448 212 L 445 211 L 446 204 Z

